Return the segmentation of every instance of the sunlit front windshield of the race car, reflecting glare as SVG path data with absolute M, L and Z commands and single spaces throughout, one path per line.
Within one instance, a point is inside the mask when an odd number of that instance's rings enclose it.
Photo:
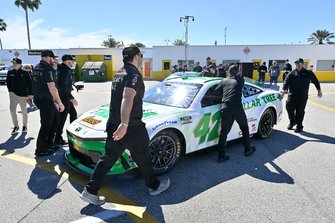
M 162 82 L 149 88 L 143 101 L 178 108 L 188 108 L 202 84 Z

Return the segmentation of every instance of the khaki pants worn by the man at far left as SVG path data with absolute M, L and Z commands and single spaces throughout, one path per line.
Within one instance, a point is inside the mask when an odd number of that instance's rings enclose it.
M 14 126 L 19 127 L 19 122 L 17 120 L 16 115 L 16 107 L 17 104 L 21 107 L 21 114 L 23 118 L 23 126 L 27 126 L 28 124 L 28 114 L 27 114 L 27 97 L 20 97 L 14 94 L 13 92 L 9 92 L 9 109 L 10 114 L 12 115 L 12 120 Z

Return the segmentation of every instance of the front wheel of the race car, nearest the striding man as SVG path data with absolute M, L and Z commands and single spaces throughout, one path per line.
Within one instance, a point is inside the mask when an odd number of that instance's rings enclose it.
M 170 171 L 182 151 L 181 141 L 173 130 L 159 132 L 150 141 L 149 149 L 154 171 L 158 175 Z

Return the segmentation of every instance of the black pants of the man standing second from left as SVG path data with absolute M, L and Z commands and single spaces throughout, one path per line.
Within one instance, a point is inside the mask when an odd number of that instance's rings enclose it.
M 58 111 L 52 99 L 34 98 L 34 103 L 40 110 L 41 119 L 41 128 L 36 142 L 36 152 L 46 152 L 54 144 Z

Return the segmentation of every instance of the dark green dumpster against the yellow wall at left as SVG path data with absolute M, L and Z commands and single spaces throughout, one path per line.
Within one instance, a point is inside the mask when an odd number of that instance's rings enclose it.
M 106 65 L 104 62 L 86 62 L 81 70 L 83 72 L 83 81 L 106 81 Z

